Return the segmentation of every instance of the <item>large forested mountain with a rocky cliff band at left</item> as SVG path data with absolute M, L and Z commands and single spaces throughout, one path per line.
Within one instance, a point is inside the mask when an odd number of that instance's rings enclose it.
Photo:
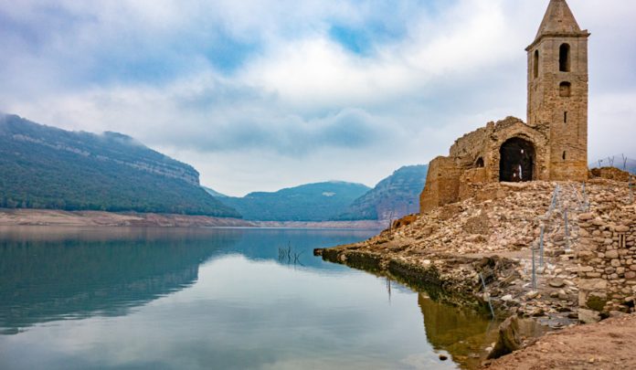
M 188 165 L 116 132 L 68 132 L 0 115 L 0 207 L 239 217 Z

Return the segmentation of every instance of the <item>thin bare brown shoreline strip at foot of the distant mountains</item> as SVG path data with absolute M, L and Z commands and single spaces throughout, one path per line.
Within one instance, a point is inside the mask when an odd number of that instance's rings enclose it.
M 248 221 L 239 218 L 132 212 L 0 208 L 0 226 L 74 227 L 255 227 L 380 229 L 387 221 Z

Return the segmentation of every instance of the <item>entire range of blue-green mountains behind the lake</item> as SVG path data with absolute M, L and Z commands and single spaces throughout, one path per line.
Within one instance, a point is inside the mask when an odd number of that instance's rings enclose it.
M 426 165 L 373 189 L 330 181 L 225 196 L 199 174 L 117 132 L 69 132 L 0 114 L 0 207 L 244 217 L 259 221 L 385 220 L 416 213 Z

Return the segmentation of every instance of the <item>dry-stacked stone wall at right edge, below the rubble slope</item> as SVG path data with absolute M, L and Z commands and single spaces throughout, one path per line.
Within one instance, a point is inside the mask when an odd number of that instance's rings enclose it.
M 629 312 L 636 296 L 636 206 L 611 199 L 578 217 L 579 296 L 583 310 Z

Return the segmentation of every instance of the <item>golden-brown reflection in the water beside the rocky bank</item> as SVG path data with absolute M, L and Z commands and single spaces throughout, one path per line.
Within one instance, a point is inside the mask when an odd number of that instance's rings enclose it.
M 447 351 L 463 366 L 479 365 L 480 359 L 471 354 L 480 354 L 484 344 L 494 342 L 498 325 L 471 309 L 432 301 L 424 294 L 419 294 L 418 304 L 433 348 Z

